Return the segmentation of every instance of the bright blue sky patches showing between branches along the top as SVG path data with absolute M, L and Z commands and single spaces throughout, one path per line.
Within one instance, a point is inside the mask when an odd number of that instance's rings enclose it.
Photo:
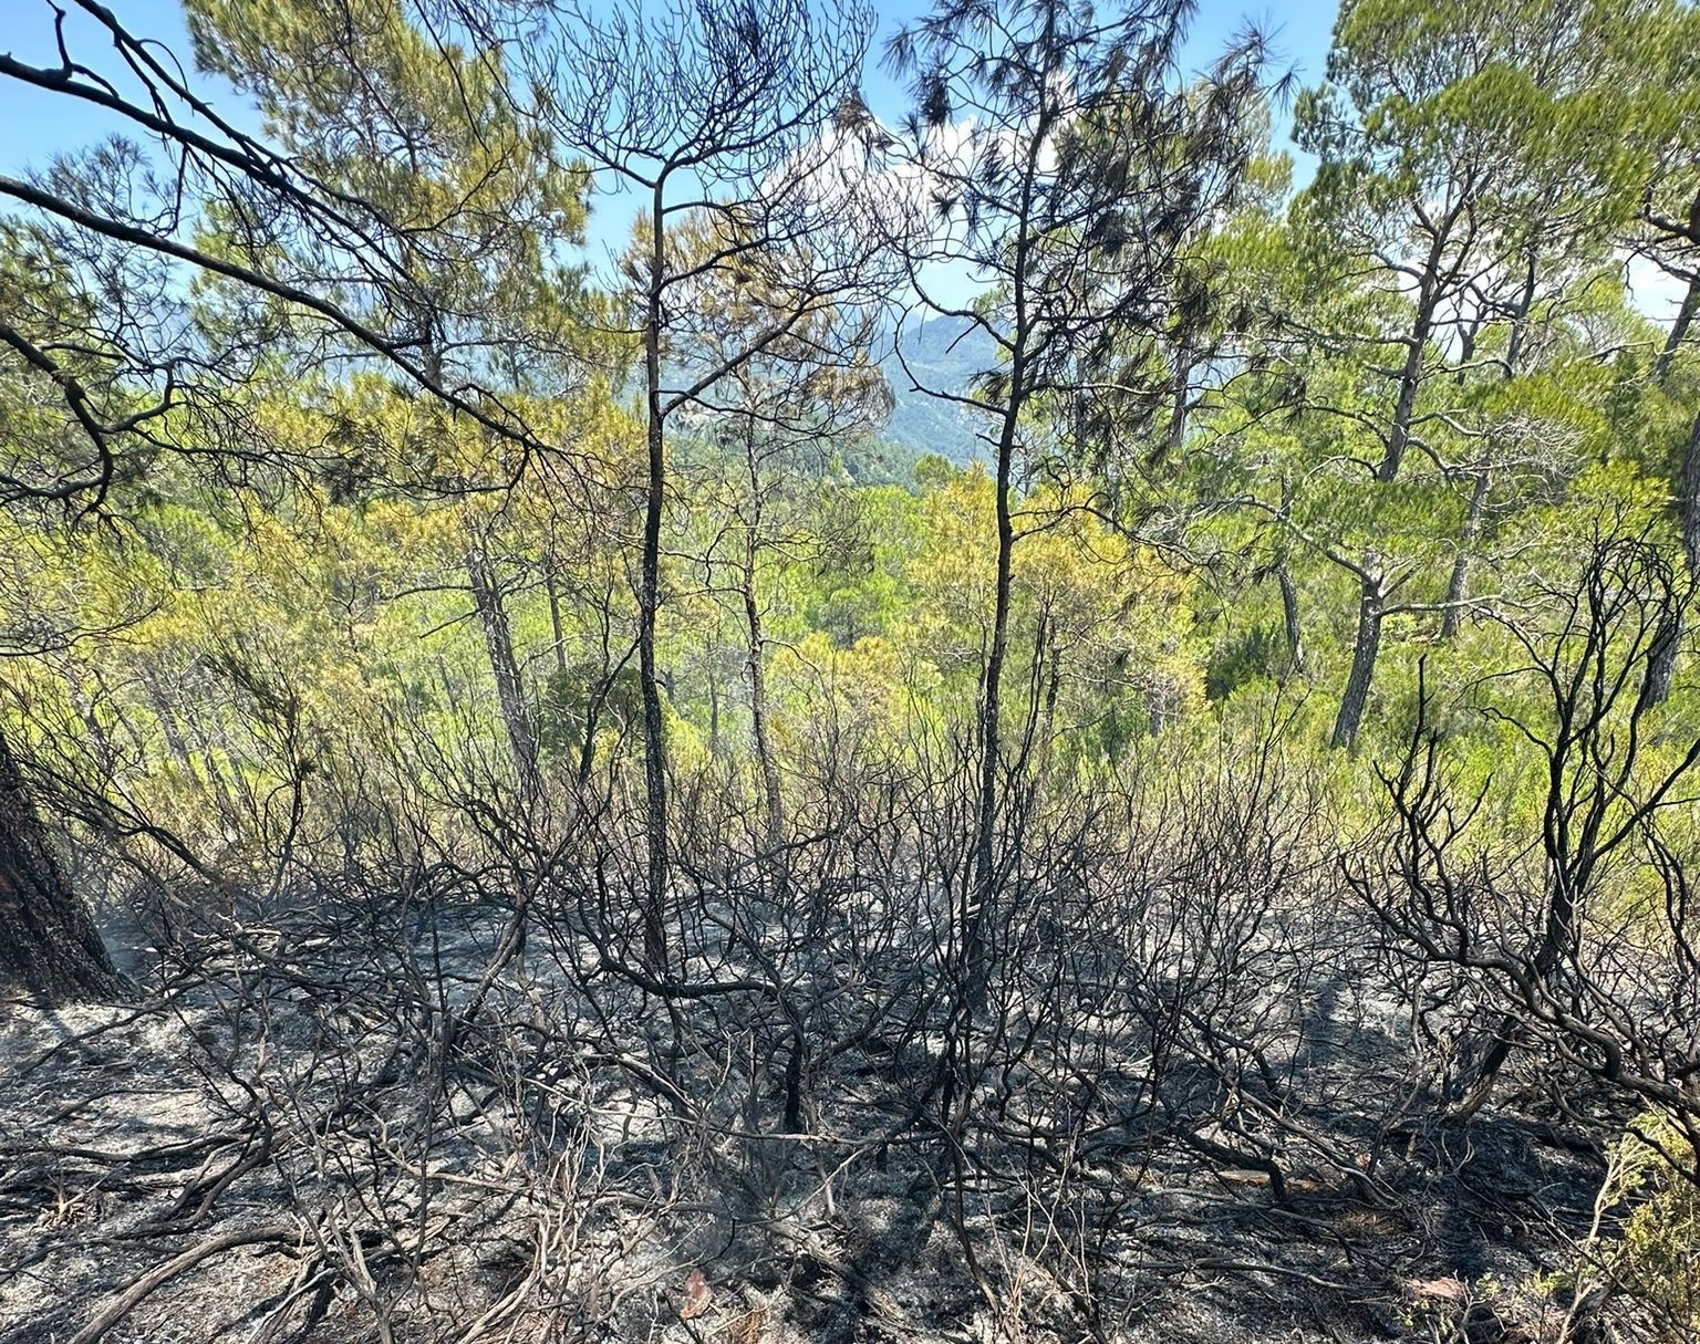
M 178 0 L 109 0 L 109 5 L 133 34 L 158 41 L 189 65 L 189 34 Z M 876 8 L 881 17 L 877 51 L 884 36 L 916 14 L 920 5 L 903 0 L 876 3 Z M 8 19 L 5 29 L 0 29 L 0 51 L 31 65 L 58 65 L 54 14 L 48 0 L 0 0 L 0 10 Z M 1314 83 L 1323 75 L 1334 12 L 1334 0 L 1275 0 L 1251 8 L 1243 0 L 1198 0 L 1190 49 L 1197 63 L 1204 65 L 1248 22 L 1255 22 L 1273 39 L 1280 68 L 1294 66 L 1300 82 Z M 114 59 L 110 41 L 75 8 L 66 20 L 66 44 L 73 59 L 109 75 L 124 90 L 122 68 Z M 190 80 L 223 116 L 243 129 L 258 129 L 253 109 L 228 85 L 192 71 Z M 901 90 L 872 63 L 865 88 L 876 114 L 889 117 L 901 112 Z M 42 168 L 54 155 L 94 144 L 121 129 L 124 126 L 119 119 L 97 107 L 0 78 L 0 173 Z M 600 217 L 593 221 L 593 238 L 609 240 L 624 234 L 631 211 L 619 197 L 602 197 L 595 214 Z

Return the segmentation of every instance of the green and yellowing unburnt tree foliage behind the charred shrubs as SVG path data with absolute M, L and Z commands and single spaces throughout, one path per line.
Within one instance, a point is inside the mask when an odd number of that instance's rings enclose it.
M 1496 686 L 1503 715 L 1537 707 L 1510 676 L 1516 632 L 1550 615 L 1549 579 L 1601 510 L 1671 534 L 1700 409 L 1692 342 L 1661 367 L 1666 330 L 1622 265 L 1625 250 L 1692 262 L 1671 226 L 1700 190 L 1693 10 L 1637 0 L 1625 22 L 1618 8 L 1346 3 L 1328 76 L 1299 100 L 1319 163 L 1297 190 L 1266 144 L 1268 109 L 1221 90 L 1207 105 L 1209 85 L 1176 87 L 1161 107 L 1175 141 L 1136 153 L 1115 83 L 1132 73 L 1110 61 L 1117 99 L 1052 109 L 1081 175 L 1020 275 L 1008 212 L 991 209 L 1012 165 L 994 136 L 978 143 L 993 172 L 972 241 L 1008 284 L 908 333 L 904 352 L 996 406 L 1008 369 L 991 333 L 1013 330 L 1013 282 L 1051 285 L 1037 297 L 1056 343 L 1012 421 L 1000 722 L 1046 788 L 1091 788 L 1153 739 L 1253 743 L 1278 722 L 1341 817 L 1365 821 L 1372 766 L 1416 719 L 1421 661 L 1440 692 L 1430 727 L 1462 778 L 1494 782 L 1484 816 L 1501 834 L 1530 822 L 1538 768 L 1472 688 Z M 299 790 L 330 843 L 350 790 L 382 795 L 447 758 L 512 787 L 515 731 L 534 736 L 546 787 L 576 785 L 590 761 L 612 797 L 641 771 L 648 445 L 624 299 L 598 292 L 583 250 L 592 177 L 495 29 L 432 34 L 418 19 L 400 0 L 194 0 L 202 66 L 252 97 L 292 172 L 388 251 L 362 282 L 311 229 L 230 200 L 197 238 L 405 328 L 408 348 L 476 376 L 536 442 L 401 389 L 342 345 L 326 353 L 287 304 L 228 277 L 180 284 L 119 250 L 68 250 L 37 219 L 0 224 L 0 309 L 63 362 L 56 382 L 0 352 L 0 477 L 19 501 L 0 520 L 14 717 L 37 744 L 65 737 L 112 797 L 245 861 L 277 844 L 277 790 Z M 1232 124 L 1212 121 L 1229 102 Z M 1202 153 L 1188 136 L 1204 124 L 1231 141 L 1239 177 L 1200 182 L 1221 207 L 1164 241 L 1173 309 L 1146 331 L 1122 321 L 1153 299 L 1146 263 L 1125 238 L 1078 236 L 1066 207 L 1105 190 L 1110 150 L 1158 180 Z M 150 187 L 134 146 L 58 172 L 85 192 Z M 1102 228 L 1125 233 L 1130 197 L 1112 195 Z M 672 217 L 670 377 L 736 353 L 802 260 L 746 236 L 736 211 Z M 806 296 L 736 376 L 682 403 L 666 437 L 658 668 L 687 792 L 755 780 L 758 693 L 799 799 L 804 761 L 930 768 L 981 731 L 993 481 L 918 455 L 957 442 L 942 428 L 967 423 L 954 403 L 921 416 L 940 443 L 920 442 L 915 416 L 879 437 L 870 328 L 840 297 Z M 1096 316 L 1071 328 L 1080 304 Z M 56 389 L 80 379 L 104 420 L 150 404 L 156 387 L 124 345 L 143 308 L 207 348 L 264 348 L 245 350 L 218 415 L 197 401 L 131 426 L 104 520 L 80 522 L 42 500 L 100 459 Z M 1357 758 L 1324 761 L 1365 576 L 1384 607 L 1379 664 Z M 1693 714 L 1678 685 L 1661 732 L 1680 739 Z

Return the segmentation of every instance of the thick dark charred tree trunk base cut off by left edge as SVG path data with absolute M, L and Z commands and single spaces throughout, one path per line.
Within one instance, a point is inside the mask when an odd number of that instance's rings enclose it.
M 0 984 L 46 1004 L 129 997 L 0 737 Z

